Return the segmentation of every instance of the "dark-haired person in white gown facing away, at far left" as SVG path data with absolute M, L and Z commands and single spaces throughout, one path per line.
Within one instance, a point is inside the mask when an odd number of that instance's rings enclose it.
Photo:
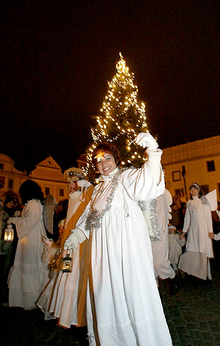
M 25 205 L 21 217 L 8 219 L 8 224 L 15 224 L 19 238 L 14 264 L 8 277 L 8 305 L 34 309 L 49 274 L 48 264 L 41 261 L 41 237 L 46 237 L 43 225 L 43 192 L 37 183 L 27 180 L 21 185 L 19 194 Z

